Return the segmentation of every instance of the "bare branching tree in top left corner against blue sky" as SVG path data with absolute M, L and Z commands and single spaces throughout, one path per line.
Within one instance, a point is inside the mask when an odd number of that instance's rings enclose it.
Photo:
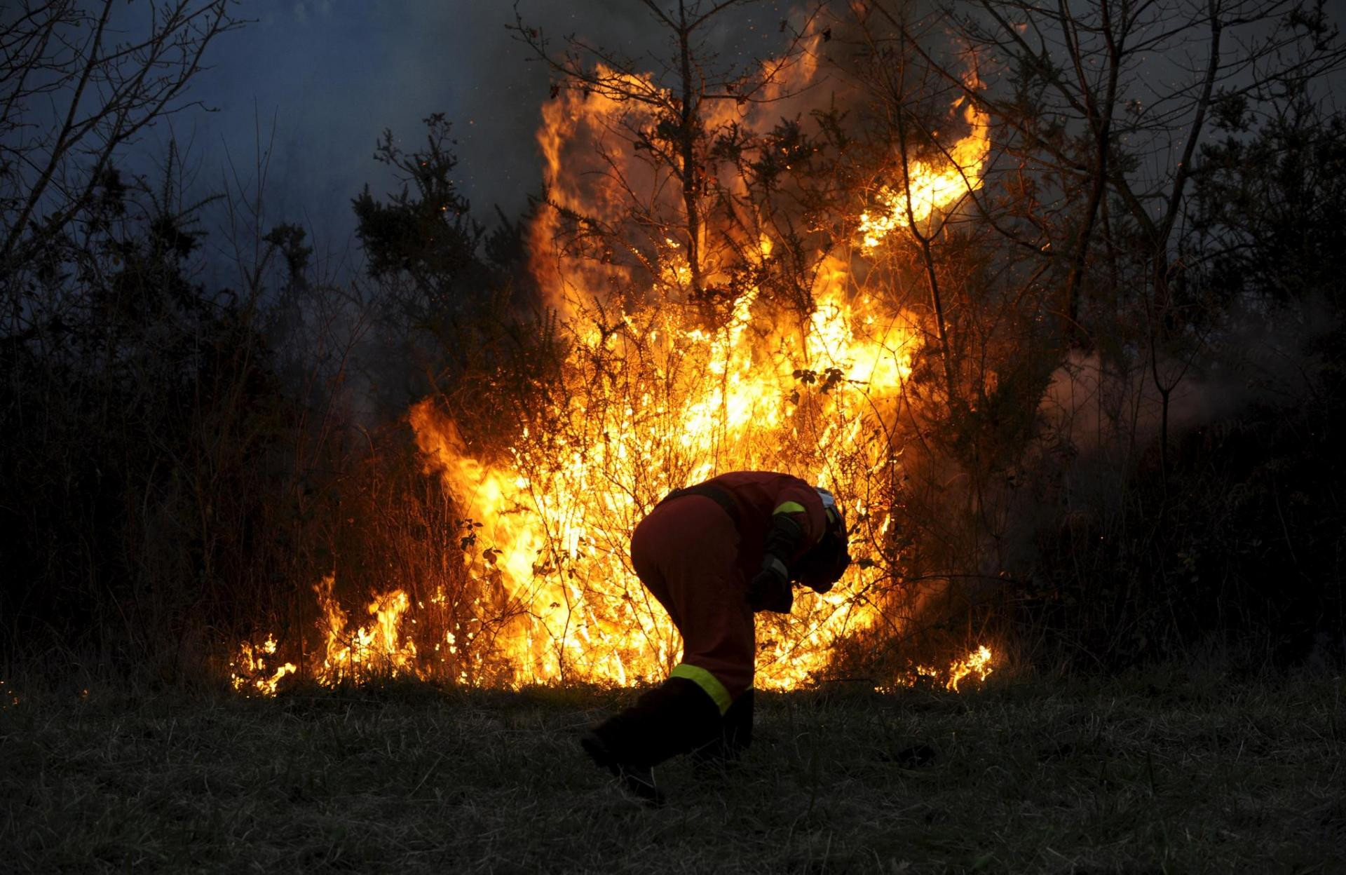
M 199 105 L 187 85 L 241 24 L 233 3 L 23 0 L 0 13 L 0 275 L 89 206 L 120 147 Z

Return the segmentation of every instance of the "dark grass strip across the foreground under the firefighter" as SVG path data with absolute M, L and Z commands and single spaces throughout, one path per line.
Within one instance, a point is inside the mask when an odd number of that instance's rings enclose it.
M 661 767 L 658 810 L 575 743 L 629 696 L 20 695 L 0 868 L 1346 871 L 1341 678 L 766 695 L 740 767 Z

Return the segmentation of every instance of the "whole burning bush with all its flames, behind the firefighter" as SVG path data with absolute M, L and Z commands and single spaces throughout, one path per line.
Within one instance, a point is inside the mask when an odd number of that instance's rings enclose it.
M 856 267 L 894 230 L 946 222 L 981 184 L 988 132 L 970 105 L 945 108 L 968 131 L 952 152 L 905 163 L 856 217 L 820 206 L 808 195 L 839 167 L 837 118 L 806 133 L 763 109 L 810 85 L 818 42 L 801 34 L 793 54 L 732 82 L 684 82 L 697 94 L 629 63 L 559 67 L 572 88 L 544 110 L 549 199 L 529 233 L 557 314 L 538 326 L 549 341 L 471 393 L 450 385 L 413 405 L 425 470 L 455 509 L 459 567 L 415 592 L 380 590 L 367 626 L 324 579 L 315 678 L 376 664 L 511 687 L 661 678 L 680 642 L 635 579 L 630 532 L 670 490 L 730 470 L 830 489 L 857 560 L 832 592 L 762 623 L 759 684 L 817 680 L 839 642 L 906 629 L 929 594 L 905 582 L 899 514 L 930 328 L 900 283 L 870 289 Z M 715 89 L 758 98 L 712 101 Z M 844 218 L 837 233 L 801 233 L 829 214 Z M 948 682 L 984 676 L 989 660 L 956 661 Z M 237 661 L 236 685 L 265 687 L 273 670 Z

